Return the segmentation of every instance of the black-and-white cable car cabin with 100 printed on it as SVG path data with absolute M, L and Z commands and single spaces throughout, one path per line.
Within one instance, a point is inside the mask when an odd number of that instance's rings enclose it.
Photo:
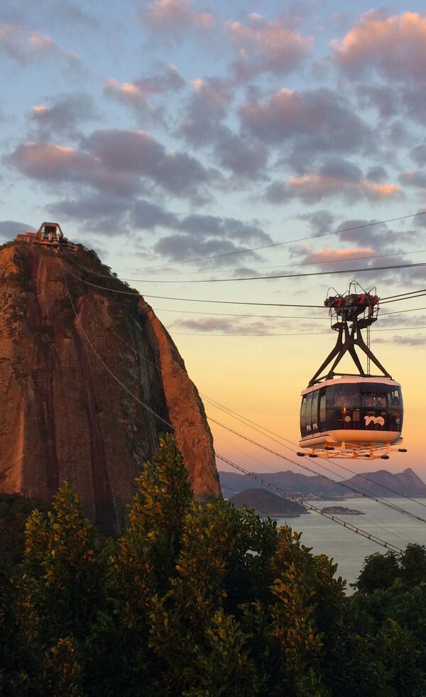
M 300 446 L 366 451 L 400 443 L 403 397 L 391 378 L 346 375 L 302 392 Z M 330 453 L 332 456 L 332 453 Z

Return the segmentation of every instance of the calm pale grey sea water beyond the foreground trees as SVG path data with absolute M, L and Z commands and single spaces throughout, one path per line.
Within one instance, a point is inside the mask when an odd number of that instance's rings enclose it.
M 422 517 L 426 521 L 426 499 L 417 501 L 405 498 L 389 498 L 389 503 Z M 385 505 L 367 498 L 345 498 L 341 501 L 312 501 L 316 508 L 342 506 L 362 511 L 365 515 L 336 514 L 355 527 L 381 538 L 400 549 L 407 544 L 417 542 L 426 544 L 426 522 L 396 512 Z M 354 583 L 359 576 L 364 559 L 369 554 L 381 552 L 386 554 L 386 548 L 361 537 L 349 529 L 325 518 L 318 513 L 303 514 L 298 518 L 278 518 L 278 525 L 288 525 L 302 532 L 302 544 L 312 547 L 312 554 L 327 554 L 338 564 L 336 576 L 342 576 L 347 581 L 347 593 L 352 593 L 349 583 Z

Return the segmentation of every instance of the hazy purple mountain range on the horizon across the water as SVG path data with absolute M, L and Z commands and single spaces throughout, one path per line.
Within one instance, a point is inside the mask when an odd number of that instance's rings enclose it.
M 387 470 L 356 474 L 350 479 L 342 480 L 342 483 L 330 482 L 321 476 L 306 476 L 287 470 L 275 473 L 256 473 L 264 481 L 277 486 L 289 494 L 309 495 L 316 498 L 344 498 L 355 496 L 356 493 L 347 487 L 360 490 L 373 496 L 392 498 L 397 496 L 411 496 L 414 498 L 426 498 L 426 484 L 419 476 L 408 467 L 403 472 L 393 474 Z M 268 488 L 251 477 L 234 472 L 219 472 L 222 493 L 225 498 L 231 498 L 244 489 Z

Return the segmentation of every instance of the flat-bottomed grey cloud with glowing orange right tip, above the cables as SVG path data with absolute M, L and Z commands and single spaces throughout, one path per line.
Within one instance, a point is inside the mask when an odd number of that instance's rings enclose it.
M 273 182 L 266 189 L 266 199 L 277 204 L 293 198 L 312 204 L 329 197 L 341 197 L 354 202 L 363 199 L 393 200 L 401 195 L 398 185 L 369 180 L 362 176 L 359 168 L 346 160 L 328 160 L 317 172 Z

